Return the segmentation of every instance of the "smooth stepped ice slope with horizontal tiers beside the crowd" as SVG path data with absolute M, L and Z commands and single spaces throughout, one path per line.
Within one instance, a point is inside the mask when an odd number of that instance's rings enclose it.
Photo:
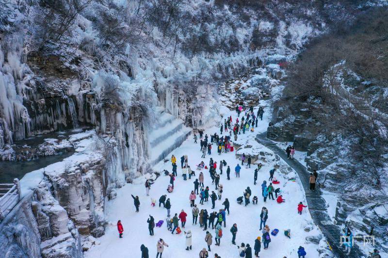
M 151 165 L 155 165 L 178 148 L 191 133 L 191 129 L 184 126 L 182 120 L 176 119 L 164 108 L 158 107 L 156 114 L 159 121 L 148 133 L 148 157 Z

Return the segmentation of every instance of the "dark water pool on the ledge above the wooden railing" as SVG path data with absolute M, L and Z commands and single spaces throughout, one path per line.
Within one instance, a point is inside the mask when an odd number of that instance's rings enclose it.
M 20 180 L 26 173 L 62 161 L 73 153 L 63 152 L 31 161 L 0 161 L 0 183 L 13 183 L 14 178 Z

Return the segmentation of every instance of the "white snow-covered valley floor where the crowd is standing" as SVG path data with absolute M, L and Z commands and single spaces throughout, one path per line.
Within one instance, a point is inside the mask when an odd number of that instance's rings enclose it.
M 265 106 L 265 102 L 260 101 L 260 105 Z M 239 135 L 238 142 L 252 143 L 252 148 L 255 148 L 257 142 L 255 141 L 255 136 L 259 132 L 264 132 L 268 126 L 268 117 L 269 108 L 265 108 L 264 120 L 259 121 L 258 128 L 255 128 L 255 133 L 245 133 Z M 233 121 L 236 120 L 236 112 L 230 111 L 228 116 L 232 116 Z M 242 115 L 240 116 L 240 118 Z M 224 119 L 222 119 L 223 121 Z M 220 118 L 221 121 L 221 118 Z M 219 134 L 220 129 L 218 127 L 213 127 L 205 131 L 209 136 L 217 132 Z M 224 133 L 225 135 L 225 133 Z M 245 144 L 243 147 L 249 147 L 248 144 Z M 257 146 L 256 146 L 257 147 Z M 286 199 L 285 203 L 278 204 L 276 200 L 267 200 L 266 203 L 263 202 L 261 197 L 261 187 L 260 184 L 264 181 L 268 181 L 269 170 L 277 164 L 275 160 L 275 155 L 269 155 L 266 157 L 266 162 L 263 162 L 263 167 L 259 171 L 258 184 L 253 184 L 253 171 L 255 165 L 252 165 L 251 168 L 245 166 L 242 167 L 241 177 L 236 178 L 234 175 L 234 167 L 238 163 L 241 164 L 241 161 L 236 159 L 236 150 L 234 152 L 222 153 L 218 155 L 215 151 L 216 148 L 213 148 L 212 154 L 207 155 L 206 158 L 201 158 L 199 140 L 198 143 L 194 143 L 193 137 L 190 137 L 176 150 L 171 152 L 168 157 L 171 157 L 171 154 L 174 154 L 178 159 L 178 177 L 174 182 L 175 189 L 173 193 L 168 193 L 166 188 L 169 184 L 169 177 L 162 174 L 156 182 L 151 185 L 150 196 L 146 196 L 145 191 L 145 178 L 139 178 L 133 184 L 126 184 L 124 187 L 117 189 L 117 197 L 109 201 L 106 207 L 107 218 L 109 225 L 104 236 L 100 240 L 100 244 L 92 247 L 89 251 L 84 253 L 87 258 L 105 258 L 110 257 L 114 254 L 115 258 L 119 257 L 140 257 L 140 245 L 145 244 L 148 247 L 150 257 L 156 256 L 156 244 L 159 238 L 162 238 L 169 247 L 164 248 L 163 257 L 164 258 L 177 258 L 177 257 L 198 257 L 198 254 L 202 248 L 206 247 L 205 235 L 206 231 L 203 231 L 199 227 L 199 224 L 192 225 L 192 213 L 189 203 L 189 195 L 192 190 L 194 190 L 194 180 L 198 178 L 199 171 L 195 170 L 195 178 L 187 181 L 183 181 L 180 173 L 180 160 L 179 158 L 182 155 L 188 155 L 189 166 L 193 169 L 195 165 L 199 164 L 202 160 L 205 164 L 209 165 L 210 157 L 213 158 L 218 164 L 221 160 L 226 160 L 227 166 L 231 168 L 231 179 L 230 181 L 226 180 L 226 167 L 223 169 L 223 174 L 221 175 L 220 183 L 224 186 L 224 192 L 222 194 L 221 200 L 216 201 L 215 209 L 211 209 L 211 202 L 204 203 L 204 205 L 199 204 L 199 197 L 195 200 L 198 208 L 207 209 L 210 213 L 212 211 L 219 211 L 219 209 L 224 208 L 222 205 L 225 198 L 229 199 L 230 202 L 230 215 L 226 216 L 226 228 L 223 228 L 223 237 L 221 239 L 221 246 L 215 246 L 214 237 L 215 232 L 211 228 L 208 228 L 210 233 L 213 235 L 213 244 L 211 246 L 211 252 L 209 257 L 214 257 L 214 253 L 217 253 L 223 258 L 239 257 L 237 250 L 237 245 L 231 243 L 232 235 L 229 231 L 233 223 L 237 223 L 238 233 L 236 238 L 236 243 L 241 244 L 249 243 L 254 246 L 255 239 L 262 235 L 261 230 L 259 230 L 260 224 L 260 211 L 263 206 L 267 207 L 269 210 L 269 217 L 267 224 L 272 229 L 279 229 L 277 236 L 271 236 L 272 242 L 269 245 L 267 250 L 263 249 L 261 245 L 261 252 L 259 253 L 260 257 L 296 257 L 297 249 L 300 245 L 304 246 L 307 251 L 308 257 L 318 257 L 317 252 L 318 245 L 312 243 L 305 243 L 305 238 L 307 236 L 317 236 L 320 234 L 319 229 L 313 225 L 310 214 L 307 209 L 303 211 L 302 215 L 297 213 L 297 204 L 300 201 L 306 203 L 305 194 L 303 189 L 300 187 L 300 184 L 297 182 L 286 181 L 286 179 L 279 173 L 275 173 L 275 177 L 281 182 L 280 187 L 283 192 L 283 198 Z M 246 152 L 252 150 L 246 149 Z M 266 152 L 271 152 L 266 150 Z M 271 153 L 272 154 L 272 153 Z M 261 161 L 260 161 L 261 162 Z M 154 169 L 157 171 L 162 171 L 167 169 L 171 172 L 171 162 L 164 163 L 163 161 L 154 166 Z M 210 175 L 208 170 L 203 170 L 205 176 L 205 187 L 209 186 L 210 193 L 215 190 L 214 184 L 211 184 Z M 219 173 L 219 168 L 217 167 L 217 173 Z M 297 179 L 298 180 L 298 179 Z M 284 185 L 284 186 L 283 186 Z M 246 187 L 249 186 L 252 190 L 252 197 L 258 196 L 259 203 L 258 205 L 251 203 L 244 207 L 244 205 L 239 205 L 236 201 L 237 197 L 242 196 L 243 191 Z M 135 212 L 135 207 L 133 206 L 133 199 L 130 195 L 137 195 L 140 198 L 140 212 Z M 159 197 L 166 194 L 167 198 L 170 198 L 171 201 L 171 214 L 173 217 L 175 213 L 180 213 L 183 209 L 187 214 L 187 223 L 186 227 L 182 228 L 182 233 L 179 235 L 172 235 L 170 231 L 167 230 L 165 219 L 167 215 L 166 209 L 158 207 Z M 151 206 L 151 198 L 157 200 L 156 207 Z M 161 228 L 155 228 L 155 235 L 150 236 L 148 232 L 148 224 L 146 220 L 149 215 L 152 215 L 155 218 L 155 222 L 163 220 L 164 223 Z M 122 239 L 118 238 L 118 232 L 116 228 L 116 223 L 118 220 L 121 220 L 124 227 L 124 236 Z M 180 225 L 180 223 L 179 223 Z M 284 229 L 291 229 L 291 239 L 288 239 L 284 236 Z M 309 232 L 306 232 L 304 229 L 310 228 Z M 193 250 L 186 251 L 185 245 L 185 236 L 183 231 L 191 230 L 193 233 Z

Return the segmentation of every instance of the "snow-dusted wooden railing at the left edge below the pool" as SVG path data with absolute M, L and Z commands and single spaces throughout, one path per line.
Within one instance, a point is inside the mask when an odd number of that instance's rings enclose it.
M 17 178 L 14 179 L 14 183 L 0 183 L 0 220 L 15 207 L 20 196 L 20 183 Z

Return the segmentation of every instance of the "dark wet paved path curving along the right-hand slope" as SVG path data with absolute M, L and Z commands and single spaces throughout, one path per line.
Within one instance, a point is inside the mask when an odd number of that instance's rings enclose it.
M 287 159 L 286 152 L 275 145 L 275 143 L 267 138 L 267 132 L 258 134 L 256 140 L 271 149 L 275 154 L 282 158 L 290 167 L 292 167 L 299 175 L 300 181 L 302 182 L 303 188 L 306 192 L 307 206 L 310 211 L 311 217 L 314 223 L 321 229 L 327 242 L 332 248 L 333 255 L 336 258 L 351 257 L 351 258 L 362 258 L 365 257 L 359 249 L 354 246 L 349 255 L 346 255 L 343 248 L 339 246 L 340 236 L 342 235 L 341 230 L 336 225 L 331 223 L 329 214 L 326 210 L 326 202 L 323 199 L 322 192 L 318 188 L 316 191 L 310 191 L 309 184 L 309 172 L 306 167 L 300 164 L 296 160 Z

